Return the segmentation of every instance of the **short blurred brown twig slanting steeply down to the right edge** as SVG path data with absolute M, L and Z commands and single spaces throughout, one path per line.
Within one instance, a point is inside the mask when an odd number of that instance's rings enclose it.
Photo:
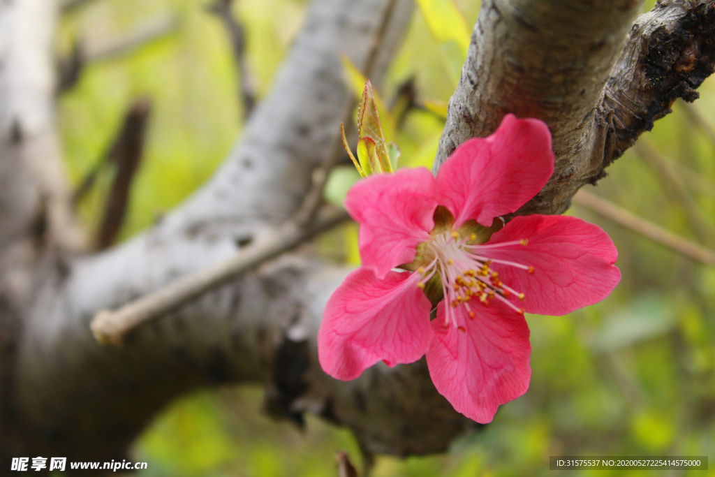
M 671 166 L 671 162 L 663 157 L 658 150 L 653 147 L 646 139 L 641 138 L 633 146 L 638 157 L 644 160 L 652 169 L 658 172 L 661 181 L 670 192 L 670 196 L 679 203 L 683 212 L 685 212 L 690 227 L 695 232 L 699 240 L 703 242 L 715 242 L 715 226 L 713 226 L 704 217 L 700 205 L 690 195 L 686 189 L 686 185 Z

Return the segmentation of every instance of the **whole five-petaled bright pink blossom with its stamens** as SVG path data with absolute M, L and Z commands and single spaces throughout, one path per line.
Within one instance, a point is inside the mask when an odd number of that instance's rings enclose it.
M 325 373 L 350 380 L 380 360 L 395 366 L 426 354 L 437 390 L 479 423 L 526 393 L 524 312 L 570 313 L 621 280 L 600 227 L 559 215 L 498 218 L 536 195 L 553 164 L 546 124 L 508 114 L 491 136 L 458 147 L 436 178 L 400 169 L 353 186 L 345 207 L 360 224 L 363 267 L 325 308 L 317 337 Z

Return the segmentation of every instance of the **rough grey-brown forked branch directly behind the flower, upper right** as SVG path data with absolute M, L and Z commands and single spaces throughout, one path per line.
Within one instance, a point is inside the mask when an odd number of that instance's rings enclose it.
M 493 132 L 504 114 L 538 117 L 553 134 L 556 170 L 517 213 L 568 209 L 677 98 L 696 99 L 694 88 L 713 72 L 712 1 L 659 1 L 631 26 L 640 6 L 483 2 L 435 170 L 458 144 Z

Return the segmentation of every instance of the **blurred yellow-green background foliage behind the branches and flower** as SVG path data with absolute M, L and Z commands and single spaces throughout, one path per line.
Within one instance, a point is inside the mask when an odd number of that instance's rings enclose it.
M 646 3 L 649 9 L 654 1 Z M 419 101 L 449 99 L 479 9 L 476 1 L 457 0 L 461 19 L 452 5 L 420 2 L 380 88 L 386 103 L 410 78 Z M 247 62 L 259 98 L 269 91 L 306 6 L 307 0 L 236 2 L 233 13 L 247 32 Z M 60 56 L 69 54 L 74 41 L 102 46 L 152 19 L 169 19 L 172 25 L 152 41 L 89 63 L 59 99 L 73 185 L 99 162 L 129 104 L 137 97 L 152 100 L 144 159 L 120 240 L 151 225 L 207 180 L 240 134 L 242 107 L 230 44 L 206 7 L 207 0 L 94 0 L 61 17 Z M 715 80 L 699 91 L 696 109 L 706 124 L 715 124 Z M 700 220 L 694 222 L 692 212 L 674 200 L 668 180 L 633 151 L 608 169 L 610 177 L 594 192 L 715 248 L 715 144 L 687 112 L 676 104 L 674 113 L 644 137 L 685 178 Z M 402 165 L 429 167 L 442 127 L 438 115 L 413 109 L 388 139 L 400 145 Z M 354 178 L 349 167 L 335 172 L 328 198 L 340 200 Z M 110 167 L 79 203 L 88 230 L 99 227 L 111 182 Z M 715 469 L 715 269 L 586 209 L 569 213 L 611 235 L 620 251 L 621 285 L 607 300 L 577 313 L 528 316 L 533 346 L 528 393 L 503 405 L 493 423 L 455 442 L 449 453 L 405 460 L 378 456 L 373 476 L 539 476 L 550 472 L 550 455 L 709 455 Z M 336 260 L 357 263 L 355 233 L 355 226 L 347 226 L 319 243 Z M 306 431 L 300 432 L 257 413 L 261 402 L 262 391 L 246 387 L 178 400 L 135 444 L 134 460 L 149 462 L 139 475 L 336 476 L 335 451 L 341 449 L 361 462 L 349 431 L 308 417 Z M 662 475 L 715 476 L 715 470 Z

